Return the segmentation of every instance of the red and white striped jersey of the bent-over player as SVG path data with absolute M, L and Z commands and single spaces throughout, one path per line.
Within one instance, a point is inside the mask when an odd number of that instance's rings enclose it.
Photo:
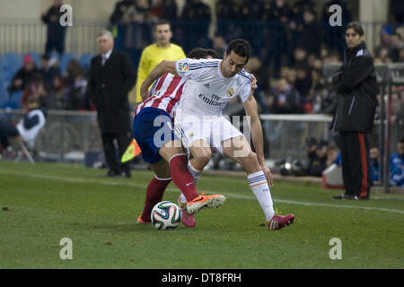
M 150 91 L 151 96 L 137 106 L 134 117 L 144 108 L 162 109 L 173 117 L 174 108 L 180 101 L 185 82 L 185 78 L 177 74 L 163 74 L 154 82 Z

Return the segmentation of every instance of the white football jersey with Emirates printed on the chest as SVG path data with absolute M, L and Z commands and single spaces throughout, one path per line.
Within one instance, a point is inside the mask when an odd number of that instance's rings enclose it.
M 220 70 L 222 61 L 189 58 L 177 61 L 177 74 L 187 80 L 178 106 L 182 115 L 222 116 L 229 100 L 240 96 L 244 102 L 249 98 L 251 75 L 242 70 L 225 78 Z

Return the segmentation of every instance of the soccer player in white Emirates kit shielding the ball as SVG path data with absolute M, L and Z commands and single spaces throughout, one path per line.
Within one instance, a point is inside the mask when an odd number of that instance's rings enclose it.
M 198 180 L 212 156 L 211 148 L 239 162 L 247 172 L 250 189 L 259 200 L 265 213 L 269 230 L 278 230 L 294 222 L 294 214 L 275 214 L 269 186 L 272 175 L 265 163 L 262 127 L 253 91 L 256 80 L 242 70 L 250 57 L 250 44 L 244 39 L 229 43 L 224 59 L 162 61 L 148 75 L 141 87 L 141 95 L 147 95 L 147 87 L 162 74 L 178 74 L 187 82 L 182 90 L 176 110 L 175 129 L 182 144 L 192 154 L 189 170 Z M 255 152 L 250 143 L 222 115 L 229 100 L 239 96 L 246 115 L 250 117 L 250 130 Z

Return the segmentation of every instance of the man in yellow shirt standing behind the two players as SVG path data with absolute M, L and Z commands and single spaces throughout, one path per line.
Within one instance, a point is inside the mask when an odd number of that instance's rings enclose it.
M 140 86 L 147 75 L 154 69 L 154 66 L 158 65 L 162 60 L 176 61 L 186 58 L 182 48 L 170 42 L 172 37 L 170 22 L 164 20 L 157 22 L 154 24 L 153 31 L 157 42 L 143 50 L 137 69 L 136 102 L 142 102 Z

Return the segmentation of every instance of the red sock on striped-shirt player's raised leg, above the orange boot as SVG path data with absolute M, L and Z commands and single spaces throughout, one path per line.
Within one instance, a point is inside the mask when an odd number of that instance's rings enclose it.
M 188 157 L 186 154 L 176 154 L 170 159 L 171 177 L 174 184 L 180 188 L 182 194 L 187 198 L 187 201 L 198 197 L 197 187 L 195 187 L 194 178 L 190 174 L 187 163 Z

